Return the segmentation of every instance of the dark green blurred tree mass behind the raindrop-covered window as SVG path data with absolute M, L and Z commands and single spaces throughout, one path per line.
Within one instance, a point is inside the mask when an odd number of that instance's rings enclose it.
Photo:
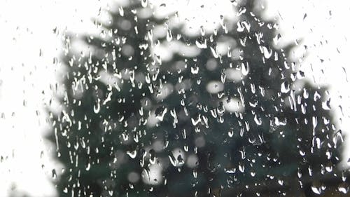
M 132 1 L 84 36 L 88 55 L 66 36 L 59 196 L 311 196 L 339 177 L 327 89 L 255 1 L 232 4 L 212 34 Z

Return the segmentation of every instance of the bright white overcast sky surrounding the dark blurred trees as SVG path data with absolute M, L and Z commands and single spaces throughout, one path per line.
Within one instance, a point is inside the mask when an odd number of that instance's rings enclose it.
M 211 20 L 218 22 L 220 15 L 230 9 L 230 6 L 223 6 L 223 2 L 230 5 L 230 1 L 220 1 L 220 4 L 209 0 L 158 1 L 168 7 L 178 6 L 179 15 L 182 19 L 188 18 L 193 26 L 204 22 L 204 19 L 208 19 L 209 24 Z M 48 128 L 43 100 L 50 97 L 49 84 L 53 83 L 55 69 L 59 68 L 52 64 L 60 43 L 59 36 L 53 34 L 52 29 L 67 27 L 73 32 L 85 32 L 92 27 L 91 16 L 96 16 L 99 8 L 107 2 L 0 1 L 0 156 L 8 157 L 0 163 L 0 196 L 6 196 L 13 183 L 32 196 L 55 195 L 53 186 L 48 182 L 54 165 L 49 162 L 48 149 L 41 137 L 43 130 Z M 350 84 L 343 70 L 350 72 L 346 64 L 350 54 L 347 41 L 350 35 L 347 28 L 350 1 L 268 2 L 268 15 L 281 15 L 279 23 L 284 31 L 283 39 L 304 38 L 302 45 L 308 46 L 309 57 L 302 68 L 310 79 L 330 84 L 331 103 L 337 117 L 342 118 L 341 128 L 350 130 L 350 92 L 347 88 Z M 200 8 L 202 4 L 204 8 Z M 310 65 L 314 72 L 311 72 Z M 344 116 L 338 105 L 342 106 Z M 1 118 L 1 114 L 5 118 Z M 41 151 L 44 153 L 42 157 Z M 42 168 L 41 165 L 45 166 Z

